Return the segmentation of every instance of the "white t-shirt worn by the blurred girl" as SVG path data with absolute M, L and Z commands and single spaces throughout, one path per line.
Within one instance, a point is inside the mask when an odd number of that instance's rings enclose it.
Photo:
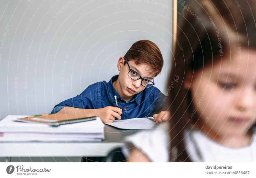
M 193 162 L 256 162 L 256 134 L 244 148 L 228 148 L 212 141 L 197 130 L 185 132 L 186 152 Z M 147 130 L 125 138 L 122 148 L 126 158 L 129 151 L 136 146 L 153 162 L 169 162 L 170 137 L 167 124 L 158 130 Z M 176 158 L 182 154 L 177 153 Z M 171 160 L 173 161 L 173 160 Z

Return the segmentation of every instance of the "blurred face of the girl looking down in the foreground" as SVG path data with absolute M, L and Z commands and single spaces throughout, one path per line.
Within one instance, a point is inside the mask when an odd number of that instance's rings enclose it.
M 200 116 L 206 135 L 245 135 L 256 122 L 256 51 L 241 49 L 193 75 L 185 82 L 193 98 L 190 118 Z

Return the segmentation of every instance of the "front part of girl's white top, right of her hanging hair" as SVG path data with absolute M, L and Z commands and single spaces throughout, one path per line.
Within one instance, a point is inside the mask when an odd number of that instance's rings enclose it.
M 247 162 L 256 161 L 256 129 L 251 142 L 242 148 L 231 148 L 208 138 L 198 130 L 187 130 L 186 151 L 193 162 Z

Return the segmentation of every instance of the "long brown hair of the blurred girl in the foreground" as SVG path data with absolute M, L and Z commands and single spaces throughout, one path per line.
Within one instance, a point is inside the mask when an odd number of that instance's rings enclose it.
M 188 72 L 193 74 L 206 65 L 214 65 L 216 60 L 230 57 L 232 48 L 237 49 L 238 44 L 256 49 L 255 1 L 243 0 L 237 4 L 231 0 L 193 0 L 190 4 L 184 9 L 186 14 L 178 27 L 168 81 L 168 85 L 172 84 L 167 101 L 172 114 L 170 160 L 177 162 L 191 162 L 185 151 L 184 131 L 199 119 L 197 115 L 190 119 L 192 97 L 184 87 Z M 179 80 L 173 82 L 176 76 Z

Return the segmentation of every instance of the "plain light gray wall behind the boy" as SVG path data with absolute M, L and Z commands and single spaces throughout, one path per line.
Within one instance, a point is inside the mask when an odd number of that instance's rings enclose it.
M 165 94 L 171 1 L 1 0 L 0 119 L 49 113 L 88 85 L 109 81 L 118 74 L 118 58 L 140 39 L 153 41 L 163 53 L 155 81 Z

